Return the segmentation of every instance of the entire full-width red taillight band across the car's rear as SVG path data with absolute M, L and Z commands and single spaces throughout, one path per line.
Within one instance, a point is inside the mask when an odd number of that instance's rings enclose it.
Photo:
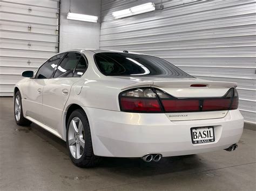
M 121 93 L 119 102 L 122 111 L 131 112 L 234 110 L 238 108 L 238 92 L 231 88 L 223 97 L 176 98 L 158 89 L 138 88 Z

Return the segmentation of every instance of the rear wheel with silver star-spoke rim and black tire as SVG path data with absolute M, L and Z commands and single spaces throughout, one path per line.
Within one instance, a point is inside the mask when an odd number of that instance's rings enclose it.
M 77 109 L 69 116 L 66 147 L 71 161 L 78 167 L 93 167 L 100 160 L 100 157 L 93 153 L 90 125 L 83 109 Z

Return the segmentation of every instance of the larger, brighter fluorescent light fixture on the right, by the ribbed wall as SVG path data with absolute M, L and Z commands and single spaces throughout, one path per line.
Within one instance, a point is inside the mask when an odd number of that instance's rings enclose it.
M 154 10 L 156 10 L 154 3 L 145 3 L 138 6 L 133 6 L 132 8 L 129 8 L 129 9 L 112 12 L 112 15 L 114 18 L 118 19 L 123 17 L 129 17 L 132 15 L 138 15 L 144 12 L 150 12 Z

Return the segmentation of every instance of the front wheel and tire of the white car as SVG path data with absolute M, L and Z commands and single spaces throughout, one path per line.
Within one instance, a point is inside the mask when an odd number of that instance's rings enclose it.
M 28 126 L 32 123 L 23 116 L 22 96 L 19 91 L 16 92 L 14 98 L 14 118 L 17 125 Z

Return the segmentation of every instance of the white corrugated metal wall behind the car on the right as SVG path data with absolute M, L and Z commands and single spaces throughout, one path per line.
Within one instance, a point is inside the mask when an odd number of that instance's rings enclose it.
M 111 13 L 161 1 L 102 1 L 100 48 L 159 56 L 201 79 L 238 82 L 240 111 L 256 119 L 256 2 L 164 1 L 164 10 Z

